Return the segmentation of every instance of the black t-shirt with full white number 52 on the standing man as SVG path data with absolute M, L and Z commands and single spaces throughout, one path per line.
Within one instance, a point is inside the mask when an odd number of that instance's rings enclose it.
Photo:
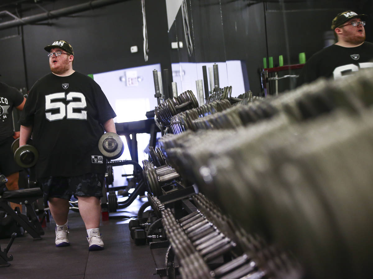
M 19 124 L 32 126 L 39 152 L 37 178 L 104 173 L 98 150 L 103 124 L 116 117 L 100 86 L 90 77 L 49 73 L 31 88 Z

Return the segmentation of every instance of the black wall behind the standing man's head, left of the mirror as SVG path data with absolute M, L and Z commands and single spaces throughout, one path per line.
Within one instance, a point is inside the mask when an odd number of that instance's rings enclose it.
M 82 2 L 86 1 L 63 0 L 43 7 L 56 10 Z M 43 12 L 42 9 L 26 10 L 22 17 Z M 73 46 L 73 68 L 85 74 L 156 63 L 161 63 L 162 69 L 170 69 L 164 0 L 145 1 L 145 12 L 148 61 L 144 60 L 143 53 L 141 1 L 127 0 L 0 31 L 0 80 L 17 88 L 31 88 L 37 79 L 50 72 L 44 47 L 57 39 Z M 138 46 L 137 53 L 130 52 L 133 45 Z

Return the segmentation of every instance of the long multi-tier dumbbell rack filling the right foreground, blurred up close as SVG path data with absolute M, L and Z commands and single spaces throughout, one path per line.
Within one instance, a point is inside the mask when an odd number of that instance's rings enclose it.
M 167 165 L 148 196 L 170 245 L 158 274 L 370 278 L 372 74 L 170 115 L 144 168 L 154 183 Z M 190 186 L 181 205 L 162 201 Z

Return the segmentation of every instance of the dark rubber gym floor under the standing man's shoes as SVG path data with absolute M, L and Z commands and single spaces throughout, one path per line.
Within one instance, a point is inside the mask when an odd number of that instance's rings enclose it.
M 110 213 L 109 221 L 101 222 L 105 249 L 88 252 L 88 242 L 84 223 L 77 212 L 69 213 L 68 247 L 55 247 L 55 223 L 51 219 L 42 240 L 33 240 L 25 234 L 16 237 L 8 252 L 13 255 L 9 267 L 0 268 L 1 279 L 103 279 L 160 278 L 156 275 L 156 261 L 149 245 L 136 246 L 130 237 L 129 219 L 122 216 L 135 216 L 141 204 L 147 199 L 136 199 L 131 206 Z M 115 219 L 112 219 L 115 218 Z M 1 239 L 1 250 L 6 248 L 9 239 Z

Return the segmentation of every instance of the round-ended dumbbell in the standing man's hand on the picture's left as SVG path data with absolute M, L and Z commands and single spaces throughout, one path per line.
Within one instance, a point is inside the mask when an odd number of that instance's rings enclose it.
M 27 143 L 31 143 L 31 139 Z M 19 146 L 19 138 L 12 143 L 11 149 L 14 161 L 22 168 L 33 167 L 39 159 L 39 152 L 34 146 L 30 144 Z

